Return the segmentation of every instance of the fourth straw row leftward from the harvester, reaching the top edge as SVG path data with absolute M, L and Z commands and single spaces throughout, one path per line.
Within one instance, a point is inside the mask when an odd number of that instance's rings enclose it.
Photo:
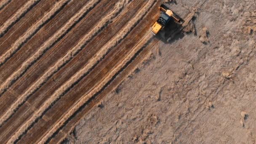
M 64 35 L 67 34 L 67 32 L 74 27 L 75 24 L 77 24 L 83 17 L 85 13 L 90 11 L 100 0 L 92 0 L 88 3 L 88 5 L 85 5 L 75 16 L 73 16 L 69 21 L 61 27 L 61 29 L 58 30 L 50 39 L 48 39 L 38 50 L 37 52 L 32 55 L 29 59 L 27 59 L 21 67 L 16 71 L 13 72 L 13 74 L 8 77 L 8 79 L 0 86 L 0 95 L 3 94 L 6 89 L 8 89 L 21 75 L 24 74 L 24 72 L 29 69 L 29 67 L 32 66 L 40 57 L 49 49 L 51 48 L 57 41 L 59 41 Z M 61 1 L 61 2 L 66 2 Z M 1 58 L 0 58 L 0 64 L 1 64 Z M 0 125 L 2 123 L 0 122 Z

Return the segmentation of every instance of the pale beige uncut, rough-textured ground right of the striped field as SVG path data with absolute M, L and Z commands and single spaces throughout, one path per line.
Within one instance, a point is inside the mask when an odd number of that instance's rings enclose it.
M 184 17 L 194 3 L 170 7 Z M 255 9 L 255 0 L 206 0 L 64 143 L 255 144 Z

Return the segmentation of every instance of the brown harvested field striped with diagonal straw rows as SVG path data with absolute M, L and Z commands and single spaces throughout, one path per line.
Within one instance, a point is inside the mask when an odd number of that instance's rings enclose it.
M 45 143 L 62 128 L 67 136 L 83 105 L 151 43 L 159 4 L 29 0 L 10 13 L 15 3 L 1 3 L 10 16 L 0 29 L 0 143 Z

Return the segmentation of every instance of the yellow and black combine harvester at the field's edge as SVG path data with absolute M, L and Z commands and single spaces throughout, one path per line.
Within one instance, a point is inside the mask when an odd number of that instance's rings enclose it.
M 166 5 L 162 4 L 158 7 L 160 10 L 160 17 L 157 19 L 155 24 L 152 26 L 152 33 L 156 35 L 162 30 L 168 22 L 173 19 L 175 22 L 182 24 L 184 21 L 173 11 L 171 11 Z

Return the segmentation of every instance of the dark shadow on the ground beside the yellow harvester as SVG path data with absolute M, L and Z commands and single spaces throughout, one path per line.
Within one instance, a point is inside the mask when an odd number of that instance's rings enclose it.
M 171 20 L 163 30 L 161 30 L 156 38 L 164 43 L 173 43 L 176 40 L 182 39 L 184 33 L 182 32 L 182 25 Z

